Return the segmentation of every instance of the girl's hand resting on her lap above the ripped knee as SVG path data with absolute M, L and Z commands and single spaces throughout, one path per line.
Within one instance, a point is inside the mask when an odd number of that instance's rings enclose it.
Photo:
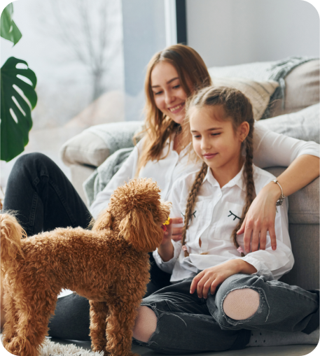
M 221 285 L 228 277 L 236 273 L 252 274 L 256 273 L 256 271 L 252 264 L 245 262 L 243 259 L 230 259 L 223 264 L 204 269 L 204 271 L 197 274 L 191 283 L 190 294 L 197 290 L 199 298 L 207 299 L 209 290 L 211 294 L 214 294 L 216 287 Z

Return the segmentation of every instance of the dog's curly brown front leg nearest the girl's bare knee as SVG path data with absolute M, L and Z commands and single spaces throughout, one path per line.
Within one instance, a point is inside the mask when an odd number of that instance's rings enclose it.
M 132 329 L 138 315 L 140 300 L 130 300 L 127 304 L 120 301 L 116 305 L 109 304 L 110 314 L 106 320 L 106 351 L 111 356 L 139 356 L 131 352 Z M 109 354 L 108 354 L 109 353 Z

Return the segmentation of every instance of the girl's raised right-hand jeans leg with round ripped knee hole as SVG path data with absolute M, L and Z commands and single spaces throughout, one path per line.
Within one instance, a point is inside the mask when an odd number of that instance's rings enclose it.
M 223 301 L 232 290 L 251 288 L 260 296 L 258 311 L 246 320 L 233 320 L 223 312 Z M 259 329 L 270 332 L 301 332 L 320 306 L 316 292 L 287 285 L 263 276 L 235 274 L 227 278 L 216 295 L 209 294 L 208 309 L 222 329 Z

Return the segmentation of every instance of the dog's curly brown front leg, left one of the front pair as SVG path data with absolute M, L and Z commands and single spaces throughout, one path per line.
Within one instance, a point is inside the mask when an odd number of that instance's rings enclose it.
M 92 351 L 106 350 L 106 318 L 109 308 L 106 302 L 90 300 L 90 337 Z

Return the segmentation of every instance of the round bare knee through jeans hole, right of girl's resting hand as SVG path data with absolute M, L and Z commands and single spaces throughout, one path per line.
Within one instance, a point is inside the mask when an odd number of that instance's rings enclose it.
M 223 311 L 231 319 L 245 320 L 258 311 L 259 304 L 260 296 L 256 290 L 232 290 L 223 301 Z

